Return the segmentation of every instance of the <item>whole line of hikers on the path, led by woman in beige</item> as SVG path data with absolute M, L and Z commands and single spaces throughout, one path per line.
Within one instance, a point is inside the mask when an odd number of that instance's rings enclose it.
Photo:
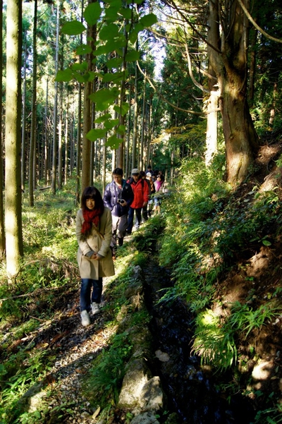
M 90 325 L 90 310 L 93 315 L 100 312 L 102 278 L 114 275 L 117 245 L 123 246 L 133 224 L 139 229 L 152 213 L 160 213 L 163 190 L 164 174 L 152 166 L 146 171 L 133 169 L 127 179 L 123 169 L 114 169 L 103 197 L 94 186 L 83 190 L 76 217 L 82 326 Z

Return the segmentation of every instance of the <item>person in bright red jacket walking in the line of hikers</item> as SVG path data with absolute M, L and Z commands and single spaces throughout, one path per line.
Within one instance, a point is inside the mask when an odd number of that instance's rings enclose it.
M 149 186 L 146 181 L 140 176 L 138 169 L 132 170 L 132 177 L 128 182 L 133 189 L 134 199 L 128 210 L 128 229 L 127 234 L 132 233 L 134 212 L 136 215 L 135 229 L 138 229 L 141 222 L 142 207 L 147 206 L 149 200 Z

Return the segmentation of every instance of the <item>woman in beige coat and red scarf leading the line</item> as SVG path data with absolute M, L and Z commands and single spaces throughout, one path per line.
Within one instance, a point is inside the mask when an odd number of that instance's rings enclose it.
M 89 312 L 100 312 L 102 277 L 114 275 L 111 255 L 111 211 L 104 207 L 95 187 L 86 187 L 76 217 L 78 267 L 81 277 L 80 312 L 82 325 L 90 325 Z M 92 289 L 92 294 L 91 294 Z

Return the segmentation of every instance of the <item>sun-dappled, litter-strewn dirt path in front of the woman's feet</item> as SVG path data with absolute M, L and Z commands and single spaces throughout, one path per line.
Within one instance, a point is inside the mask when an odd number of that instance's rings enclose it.
M 106 346 L 111 334 L 105 324 L 111 317 L 109 313 L 102 310 L 99 315 L 90 315 L 91 324 L 88 327 L 82 327 L 79 292 L 79 290 L 73 293 L 68 292 L 66 296 L 66 293 L 61 291 L 61 295 L 56 299 L 56 303 L 60 303 L 61 298 L 61 310 L 56 310 L 54 317 L 49 320 L 40 319 L 42 325 L 36 331 L 10 346 L 10 353 L 16 351 L 19 345 L 20 349 L 30 351 L 30 356 L 42 352 L 42 358 L 47 362 L 53 362 L 53 365 L 42 380 L 33 384 L 13 404 L 9 422 L 13 422 L 22 413 L 36 411 L 45 398 L 48 404 L 51 402 L 53 406 L 63 402 L 81 403 L 82 376 L 91 368 L 93 359 Z M 65 380 L 70 381 L 65 384 Z M 50 395 L 50 391 L 53 390 L 54 395 Z M 55 404 L 52 402 L 53 396 Z M 53 407 L 49 408 L 48 416 L 52 415 L 52 409 Z M 48 416 L 44 418 L 46 422 L 49 420 Z

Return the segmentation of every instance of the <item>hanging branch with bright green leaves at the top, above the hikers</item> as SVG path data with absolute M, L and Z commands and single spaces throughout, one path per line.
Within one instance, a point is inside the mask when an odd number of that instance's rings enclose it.
M 104 1 L 104 7 L 99 2 L 89 4 L 83 13 L 88 27 L 97 26 L 99 40 L 92 47 L 91 41 L 80 44 L 76 49 L 78 56 L 92 54 L 93 63 L 98 58 L 105 63 L 106 71 L 91 71 L 88 69 L 87 61 L 73 63 L 64 70 L 58 71 L 56 81 L 69 82 L 73 79 L 78 83 L 87 83 L 97 78 L 102 88 L 92 92 L 90 100 L 95 103 L 96 111 L 102 115 L 95 119 L 100 128 L 92 128 L 87 133 L 90 141 L 104 138 L 108 131 L 113 135 L 108 139 L 107 145 L 112 148 L 118 147 L 121 137 L 125 133 L 125 126 L 119 119 L 112 119 L 109 107 L 112 107 L 119 116 L 125 116 L 130 105 L 124 100 L 124 86 L 128 78 L 126 63 L 135 62 L 140 58 L 140 52 L 135 49 L 138 34 L 157 23 L 154 13 L 140 16 L 137 5 L 141 0 L 135 2 L 121 0 Z M 78 20 L 72 20 L 63 25 L 61 32 L 65 35 L 82 35 L 87 28 Z M 119 136 L 119 137 L 118 137 Z

